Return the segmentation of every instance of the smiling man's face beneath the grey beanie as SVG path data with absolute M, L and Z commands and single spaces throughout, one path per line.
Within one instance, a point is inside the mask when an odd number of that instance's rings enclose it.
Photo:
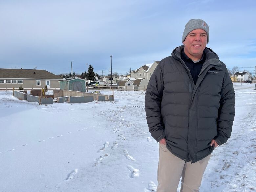
M 188 33 L 185 41 L 185 53 L 192 60 L 200 60 L 207 44 L 207 34 L 203 29 L 195 29 Z

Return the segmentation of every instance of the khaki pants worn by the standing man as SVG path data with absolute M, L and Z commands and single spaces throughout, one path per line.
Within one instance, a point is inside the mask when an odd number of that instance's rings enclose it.
M 191 164 L 176 157 L 159 143 L 157 192 L 177 192 L 181 177 L 180 192 L 198 192 L 210 156 Z

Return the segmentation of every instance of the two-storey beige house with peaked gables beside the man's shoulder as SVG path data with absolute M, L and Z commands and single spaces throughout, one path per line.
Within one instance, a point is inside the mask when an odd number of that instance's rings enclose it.
M 131 77 L 136 79 L 145 78 L 149 80 L 159 63 L 160 61 L 154 61 L 154 63 L 143 65 L 139 69 L 133 70 L 131 72 Z

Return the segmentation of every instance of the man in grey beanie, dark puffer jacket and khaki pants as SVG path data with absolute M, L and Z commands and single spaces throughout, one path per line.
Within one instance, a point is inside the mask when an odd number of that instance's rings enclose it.
M 149 132 L 159 142 L 158 192 L 199 191 L 215 147 L 231 135 L 235 95 L 223 62 L 211 49 L 209 26 L 191 19 L 184 45 L 160 61 L 146 90 Z

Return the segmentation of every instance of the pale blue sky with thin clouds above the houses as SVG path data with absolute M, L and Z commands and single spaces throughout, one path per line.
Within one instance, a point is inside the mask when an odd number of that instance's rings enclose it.
M 189 19 L 210 28 L 207 47 L 228 68 L 254 71 L 256 1 L 0 0 L 0 68 L 126 74 L 170 56 Z M 254 74 L 253 74 L 254 75 Z

